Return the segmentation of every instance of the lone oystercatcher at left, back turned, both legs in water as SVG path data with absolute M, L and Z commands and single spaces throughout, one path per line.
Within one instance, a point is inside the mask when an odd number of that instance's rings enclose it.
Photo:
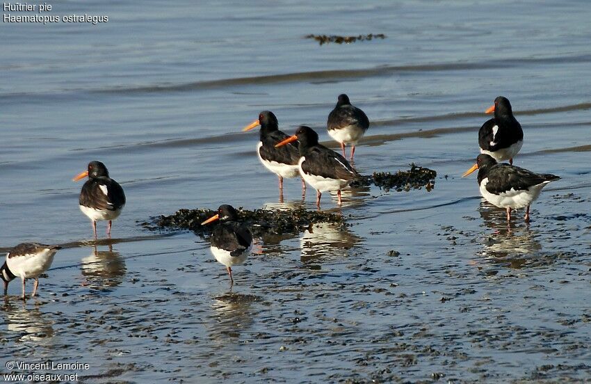
M 111 237 L 111 225 L 125 205 L 123 189 L 108 177 L 106 166 L 100 161 L 90 161 L 88 169 L 74 177 L 74 182 L 88 176 L 80 191 L 80 210 L 92 221 L 97 238 L 97 220 L 108 220 L 106 233 Z

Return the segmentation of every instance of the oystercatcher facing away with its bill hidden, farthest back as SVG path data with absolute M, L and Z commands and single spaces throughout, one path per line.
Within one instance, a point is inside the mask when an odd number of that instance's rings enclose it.
M 355 145 L 369 128 L 369 119 L 364 111 L 351 105 L 349 97 L 343 93 L 339 95 L 337 105 L 329 113 L 326 126 L 330 137 L 341 144 L 343 157 L 346 157 L 345 145 L 351 145 L 350 159 L 353 160 Z

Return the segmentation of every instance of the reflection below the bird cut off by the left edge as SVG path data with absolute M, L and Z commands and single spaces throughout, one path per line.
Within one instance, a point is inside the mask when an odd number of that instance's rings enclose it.
M 11 303 L 5 298 L 2 306 L 4 323 L 9 335 L 12 333 L 17 337 L 17 342 L 34 342 L 37 346 L 40 343 L 49 342 L 54 336 L 51 315 L 40 311 L 41 303 L 24 305 L 24 303 Z M 12 337 L 8 337 L 12 339 Z

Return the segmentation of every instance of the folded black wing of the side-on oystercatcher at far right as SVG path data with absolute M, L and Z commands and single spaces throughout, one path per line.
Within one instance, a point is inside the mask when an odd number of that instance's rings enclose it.
M 509 164 L 497 164 L 490 168 L 482 179 L 488 177 L 486 189 L 490 193 L 503 193 L 515 189 L 515 191 L 524 191 L 532 186 L 558 180 L 560 177 L 551 174 L 533 173 L 531 170 L 510 166 Z M 479 175 L 478 182 L 482 180 Z

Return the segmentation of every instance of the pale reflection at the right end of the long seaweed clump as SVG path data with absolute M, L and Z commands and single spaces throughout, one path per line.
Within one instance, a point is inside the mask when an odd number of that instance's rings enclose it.
M 355 244 L 362 241 L 347 227 L 338 223 L 316 223 L 305 230 L 300 246 L 302 262 L 318 261 L 323 257 L 343 257 Z

